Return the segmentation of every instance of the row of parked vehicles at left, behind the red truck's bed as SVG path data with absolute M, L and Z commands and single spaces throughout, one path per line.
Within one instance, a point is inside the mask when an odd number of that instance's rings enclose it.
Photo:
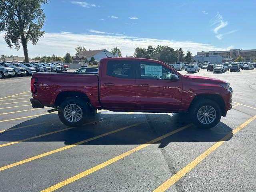
M 0 78 L 31 76 L 36 72 L 61 72 L 69 70 L 62 63 L 0 63 Z

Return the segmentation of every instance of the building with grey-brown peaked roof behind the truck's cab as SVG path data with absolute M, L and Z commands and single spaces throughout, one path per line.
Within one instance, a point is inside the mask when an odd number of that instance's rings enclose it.
M 84 62 L 85 59 L 90 61 L 92 57 L 94 57 L 95 60 L 100 61 L 102 58 L 115 57 L 115 56 L 106 49 L 100 49 L 100 50 L 84 51 L 79 55 L 73 56 L 72 58 L 73 58 L 73 63 L 78 63 L 78 62 Z

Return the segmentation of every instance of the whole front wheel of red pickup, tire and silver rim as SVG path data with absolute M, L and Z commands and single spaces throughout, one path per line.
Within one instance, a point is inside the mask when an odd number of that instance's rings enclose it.
M 212 128 L 220 122 L 220 106 L 209 99 L 202 99 L 190 108 L 192 122 L 199 128 Z

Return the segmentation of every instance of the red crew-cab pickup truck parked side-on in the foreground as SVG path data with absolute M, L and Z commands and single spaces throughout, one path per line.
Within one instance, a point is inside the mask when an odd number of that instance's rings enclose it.
M 36 73 L 31 92 L 32 107 L 56 108 L 67 126 L 80 126 L 97 109 L 107 109 L 188 112 L 196 126 L 211 128 L 232 108 L 228 82 L 182 75 L 163 62 L 142 58 L 103 58 L 98 74 Z

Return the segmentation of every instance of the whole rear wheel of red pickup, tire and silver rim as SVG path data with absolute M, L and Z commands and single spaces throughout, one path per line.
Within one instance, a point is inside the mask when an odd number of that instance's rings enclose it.
M 70 98 L 60 104 L 58 115 L 63 124 L 70 127 L 81 126 L 89 118 L 90 110 L 86 101 Z

